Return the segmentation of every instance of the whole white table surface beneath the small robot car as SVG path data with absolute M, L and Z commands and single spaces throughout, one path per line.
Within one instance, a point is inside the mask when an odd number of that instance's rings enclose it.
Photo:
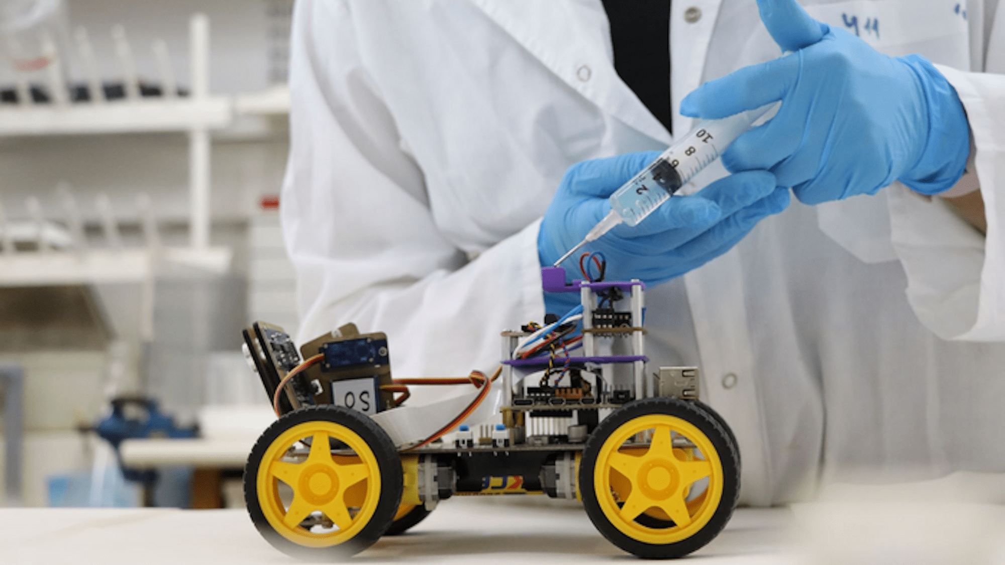
M 740 509 L 692 556 L 706 565 L 1005 565 L 1005 507 L 916 502 Z M 545 497 L 455 497 L 351 562 L 646 563 L 608 543 L 581 507 Z M 244 510 L 0 509 L 0 563 L 295 564 Z M 331 563 L 331 561 L 318 561 Z

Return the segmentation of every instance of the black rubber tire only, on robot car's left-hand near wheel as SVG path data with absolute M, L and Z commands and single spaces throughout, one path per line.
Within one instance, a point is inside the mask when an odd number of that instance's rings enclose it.
M 337 546 L 323 548 L 301 546 L 276 532 L 262 513 L 255 488 L 258 467 L 268 446 L 292 426 L 317 420 L 335 422 L 359 434 L 376 456 L 381 479 L 380 501 L 370 522 L 352 539 Z M 247 505 L 251 522 L 272 547 L 286 555 L 304 560 L 345 559 L 373 545 L 394 522 L 401 504 L 402 490 L 401 458 L 387 432 L 366 414 L 341 406 L 312 406 L 284 414 L 261 434 L 251 448 L 244 466 L 244 503 Z

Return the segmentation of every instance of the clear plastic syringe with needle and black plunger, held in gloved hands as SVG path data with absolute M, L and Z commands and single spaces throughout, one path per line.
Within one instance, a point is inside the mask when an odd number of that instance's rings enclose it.
M 555 261 L 560 265 L 591 241 L 596 241 L 621 222 L 638 225 L 660 204 L 674 194 L 686 195 L 691 191 L 682 189 L 695 175 L 700 173 L 726 148 L 768 112 L 780 103 L 769 104 L 757 110 L 737 114 L 723 120 L 705 120 L 687 135 L 677 140 L 655 161 L 649 164 L 610 197 L 611 211 L 586 234 L 575 247 Z

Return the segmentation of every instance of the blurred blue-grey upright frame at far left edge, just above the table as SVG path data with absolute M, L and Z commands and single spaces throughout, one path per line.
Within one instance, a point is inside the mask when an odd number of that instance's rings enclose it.
M 24 462 L 24 371 L 20 365 L 0 364 L 0 394 L 3 395 L 6 506 L 18 506 Z

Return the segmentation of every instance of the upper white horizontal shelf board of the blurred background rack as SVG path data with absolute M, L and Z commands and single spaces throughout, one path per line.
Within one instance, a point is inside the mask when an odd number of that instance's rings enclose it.
M 218 130 L 233 122 L 226 97 L 143 100 L 0 109 L 0 136 L 53 136 Z

